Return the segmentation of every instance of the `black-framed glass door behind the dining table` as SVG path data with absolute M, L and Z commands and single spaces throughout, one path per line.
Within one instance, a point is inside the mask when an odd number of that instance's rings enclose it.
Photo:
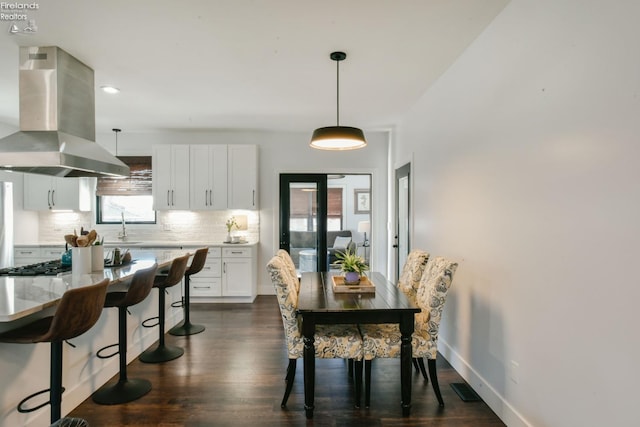
M 324 271 L 327 259 L 327 175 L 280 175 L 280 249 L 299 271 Z M 291 240 L 296 230 L 297 241 Z

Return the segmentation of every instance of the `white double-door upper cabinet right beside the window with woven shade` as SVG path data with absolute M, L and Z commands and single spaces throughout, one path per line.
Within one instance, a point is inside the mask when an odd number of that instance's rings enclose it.
M 154 208 L 188 210 L 189 146 L 154 146 L 152 161 Z

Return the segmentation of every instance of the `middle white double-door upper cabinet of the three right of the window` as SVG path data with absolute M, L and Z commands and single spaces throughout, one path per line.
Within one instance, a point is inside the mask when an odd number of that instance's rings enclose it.
M 227 208 L 227 146 L 191 145 L 191 209 Z

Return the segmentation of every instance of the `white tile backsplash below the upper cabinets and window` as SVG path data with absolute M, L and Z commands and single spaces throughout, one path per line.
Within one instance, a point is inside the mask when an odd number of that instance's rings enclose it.
M 231 216 L 246 216 L 247 229 L 233 230 L 232 235 L 243 236 L 251 242 L 259 239 L 260 217 L 258 211 L 158 211 L 156 224 L 126 224 L 130 241 L 210 242 L 221 243 L 227 237 L 226 221 Z M 94 228 L 105 242 L 118 240 L 122 225 L 95 224 L 93 212 L 41 212 L 39 242 L 64 244 L 64 235 L 80 233 L 80 228 Z

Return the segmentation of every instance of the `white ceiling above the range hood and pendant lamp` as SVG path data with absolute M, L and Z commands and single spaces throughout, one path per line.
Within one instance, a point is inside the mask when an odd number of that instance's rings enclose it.
M 335 124 L 343 50 L 341 124 L 387 129 L 506 3 L 41 0 L 37 32 L 0 21 L 0 122 L 18 126 L 18 46 L 56 45 L 95 70 L 97 132 L 311 132 Z

